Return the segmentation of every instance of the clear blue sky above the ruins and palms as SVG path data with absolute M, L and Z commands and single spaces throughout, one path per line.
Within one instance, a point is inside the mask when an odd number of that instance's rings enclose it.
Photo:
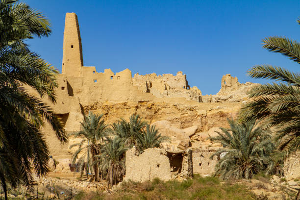
M 187 75 L 202 94 L 216 94 L 224 74 L 259 82 L 246 71 L 271 64 L 299 72 L 299 64 L 264 50 L 264 37 L 299 40 L 300 0 L 24 0 L 52 23 L 49 38 L 28 41 L 61 70 L 66 12 L 78 16 L 85 66 L 126 68 L 132 75 Z

